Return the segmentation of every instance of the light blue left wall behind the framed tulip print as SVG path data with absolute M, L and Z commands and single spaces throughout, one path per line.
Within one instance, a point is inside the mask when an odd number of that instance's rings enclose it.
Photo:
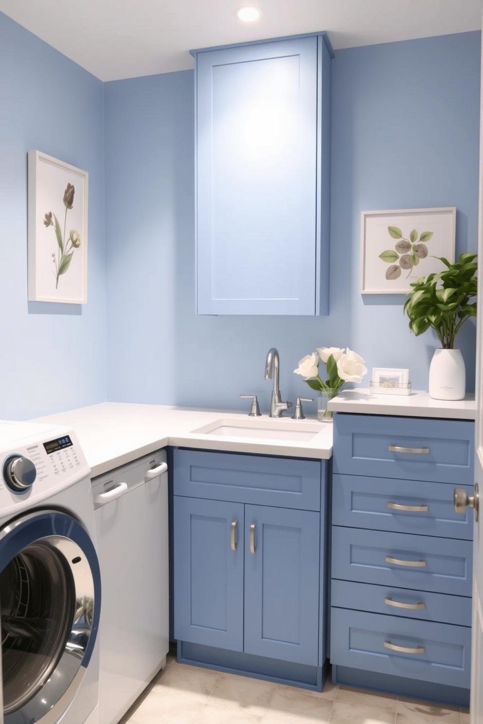
M 106 395 L 103 84 L 0 13 L 0 418 Z M 27 153 L 89 173 L 88 304 L 27 301 Z

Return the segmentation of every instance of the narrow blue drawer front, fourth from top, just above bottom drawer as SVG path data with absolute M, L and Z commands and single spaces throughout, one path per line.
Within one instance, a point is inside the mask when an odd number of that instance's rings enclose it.
M 332 580 L 332 606 L 350 608 L 354 601 L 369 613 L 471 626 L 471 598 L 466 596 Z

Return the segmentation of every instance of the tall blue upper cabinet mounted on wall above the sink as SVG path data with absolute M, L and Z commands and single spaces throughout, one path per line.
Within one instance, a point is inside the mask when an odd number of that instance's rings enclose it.
M 198 314 L 327 314 L 327 38 L 193 56 Z

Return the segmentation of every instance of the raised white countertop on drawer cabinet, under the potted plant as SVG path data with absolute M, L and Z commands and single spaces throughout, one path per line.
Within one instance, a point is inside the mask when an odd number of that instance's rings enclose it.
M 476 418 L 474 393 L 464 400 L 433 400 L 429 392 L 413 390 L 410 395 L 376 395 L 368 389 L 342 390 L 329 402 L 333 412 L 355 412 L 366 415 L 405 415 L 409 417 L 442 417 L 458 420 Z

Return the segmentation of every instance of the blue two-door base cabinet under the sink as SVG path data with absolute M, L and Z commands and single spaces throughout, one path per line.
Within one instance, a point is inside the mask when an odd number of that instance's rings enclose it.
M 182 449 L 173 459 L 180 660 L 320 689 L 325 463 Z

